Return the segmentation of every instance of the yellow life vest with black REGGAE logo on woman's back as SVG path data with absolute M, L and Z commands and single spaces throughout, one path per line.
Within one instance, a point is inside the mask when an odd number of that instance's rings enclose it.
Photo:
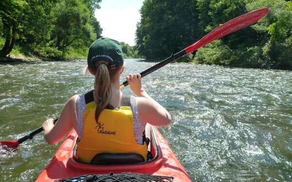
M 85 94 L 86 109 L 83 113 L 83 135 L 77 142 L 78 161 L 91 163 L 96 154 L 137 153 L 147 159 L 147 145 L 137 144 L 133 129 L 130 95 L 123 94 L 121 107 L 104 109 L 95 121 L 96 103 L 93 91 Z

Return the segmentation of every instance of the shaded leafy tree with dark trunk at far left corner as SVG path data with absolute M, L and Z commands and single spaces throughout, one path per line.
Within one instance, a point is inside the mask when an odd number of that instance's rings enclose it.
M 16 42 L 30 48 L 45 42 L 52 27 L 50 11 L 55 0 L 1 0 L 1 38 L 5 40 L 0 57 L 11 52 Z

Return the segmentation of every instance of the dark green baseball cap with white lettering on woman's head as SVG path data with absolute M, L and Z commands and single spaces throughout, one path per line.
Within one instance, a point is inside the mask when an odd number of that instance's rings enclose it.
M 107 37 L 95 40 L 89 48 L 87 65 L 94 68 L 95 61 L 109 61 L 110 69 L 122 66 L 124 55 L 121 44 Z

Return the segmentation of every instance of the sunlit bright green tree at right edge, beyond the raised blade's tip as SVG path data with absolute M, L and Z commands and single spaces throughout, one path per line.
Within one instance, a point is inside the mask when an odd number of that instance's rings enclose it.
M 265 42 L 261 42 L 262 59 L 265 67 L 292 69 L 292 1 L 256 0 L 247 4 L 249 10 L 268 7 L 269 14 L 261 24 L 253 28 L 265 32 Z

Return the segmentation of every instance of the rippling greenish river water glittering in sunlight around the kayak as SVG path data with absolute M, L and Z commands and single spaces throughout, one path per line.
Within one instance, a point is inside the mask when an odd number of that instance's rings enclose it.
M 122 78 L 154 64 L 127 59 Z M 92 89 L 84 66 L 0 65 L 0 140 L 36 130 L 71 96 Z M 171 114 L 172 123 L 159 130 L 192 181 L 292 181 L 292 71 L 169 64 L 143 85 Z M 59 146 L 38 134 L 16 152 L 1 151 L 0 182 L 34 181 Z

